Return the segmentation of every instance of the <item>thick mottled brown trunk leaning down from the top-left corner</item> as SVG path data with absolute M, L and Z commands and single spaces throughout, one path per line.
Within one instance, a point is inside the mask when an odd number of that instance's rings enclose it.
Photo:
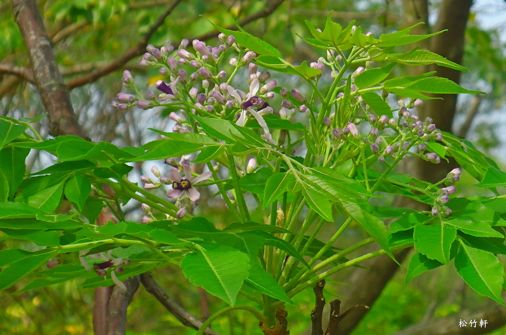
M 37 3 L 35 0 L 13 0 L 12 9 L 26 46 L 34 81 L 49 115 L 50 134 L 88 139 L 77 122 Z

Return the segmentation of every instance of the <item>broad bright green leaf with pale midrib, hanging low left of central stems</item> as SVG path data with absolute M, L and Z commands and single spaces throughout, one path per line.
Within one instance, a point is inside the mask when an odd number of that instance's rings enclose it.
M 191 283 L 210 294 L 235 304 L 235 298 L 249 275 L 249 258 L 230 247 L 207 245 L 181 260 L 183 274 Z

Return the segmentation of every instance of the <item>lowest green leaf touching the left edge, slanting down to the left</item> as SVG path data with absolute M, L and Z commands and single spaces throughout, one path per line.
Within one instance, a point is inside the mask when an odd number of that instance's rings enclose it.
M 0 290 L 11 287 L 55 255 L 56 251 L 50 251 L 12 263 L 0 272 Z

